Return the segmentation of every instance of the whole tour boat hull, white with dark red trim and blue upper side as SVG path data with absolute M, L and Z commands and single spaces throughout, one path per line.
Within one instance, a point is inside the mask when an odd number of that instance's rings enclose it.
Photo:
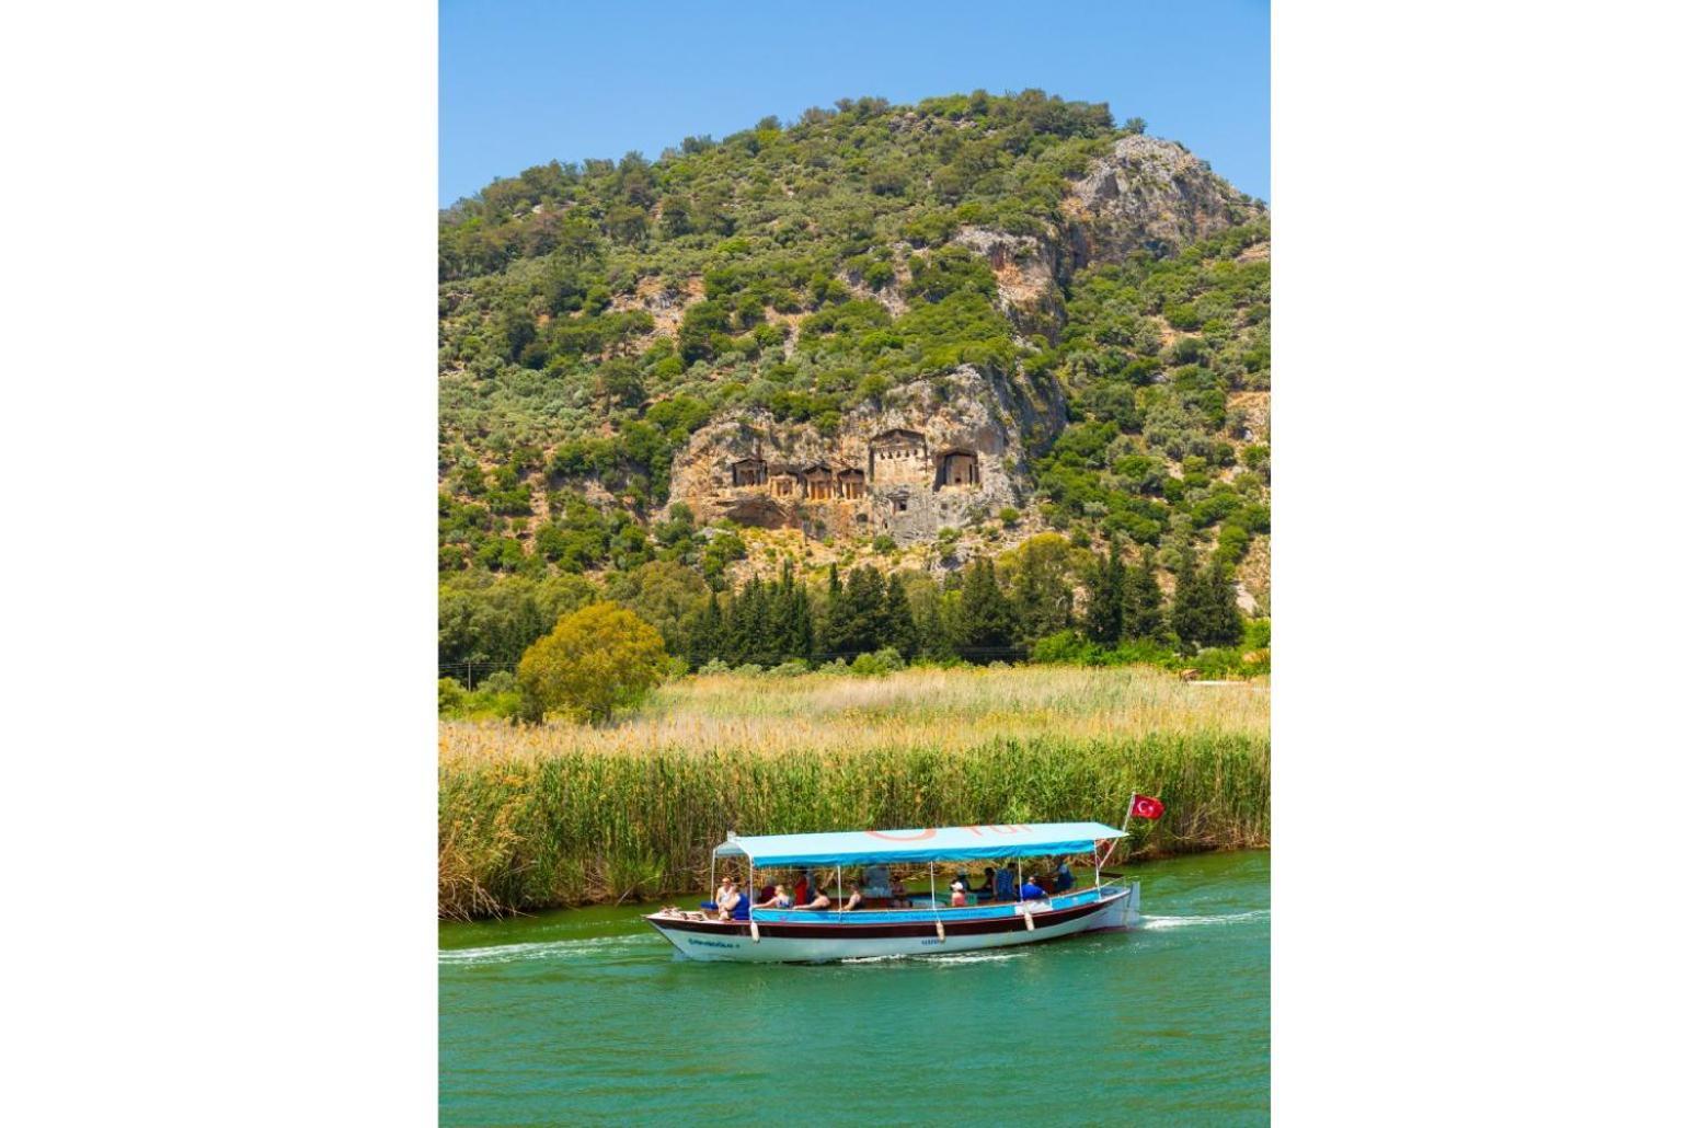
M 690 959 L 730 963 L 827 963 L 886 956 L 941 956 L 948 953 L 1016 948 L 1061 939 L 1076 932 L 1129 929 L 1139 921 L 1140 885 L 1085 890 L 1073 897 L 1026 905 L 992 905 L 973 910 L 903 910 L 805 914 L 757 912 L 756 927 L 744 921 L 690 921 L 649 914 L 644 919 Z M 1027 927 L 1026 917 L 1031 924 Z M 938 922 L 943 929 L 938 932 Z

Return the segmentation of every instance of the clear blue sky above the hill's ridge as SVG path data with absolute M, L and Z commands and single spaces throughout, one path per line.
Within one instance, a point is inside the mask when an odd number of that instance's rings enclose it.
M 1267 0 L 440 0 L 440 204 L 548 160 L 655 158 L 838 98 L 1031 86 L 1147 118 L 1269 199 L 1269 30 Z

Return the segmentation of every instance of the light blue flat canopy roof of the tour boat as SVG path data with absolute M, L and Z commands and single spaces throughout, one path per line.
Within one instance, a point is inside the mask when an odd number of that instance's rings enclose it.
M 852 830 L 825 835 L 729 835 L 717 858 L 754 865 L 865 865 L 869 862 L 958 862 L 962 858 L 1036 858 L 1090 853 L 1095 843 L 1124 838 L 1105 823 L 1017 823 L 1011 826 L 936 826 L 926 830 Z

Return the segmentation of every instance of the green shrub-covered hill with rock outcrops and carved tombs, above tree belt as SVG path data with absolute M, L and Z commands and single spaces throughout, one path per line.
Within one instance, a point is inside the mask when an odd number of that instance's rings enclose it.
M 1269 246 L 1206 162 L 1039 91 L 496 180 L 440 212 L 442 615 L 641 568 L 1011 582 L 1056 541 L 1078 602 L 1117 545 L 1264 607 Z

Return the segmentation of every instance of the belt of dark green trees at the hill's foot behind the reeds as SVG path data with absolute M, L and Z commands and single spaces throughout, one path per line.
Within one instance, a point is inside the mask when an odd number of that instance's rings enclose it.
M 687 568 L 651 561 L 597 585 L 584 577 L 466 580 L 440 590 L 442 712 L 477 715 L 498 703 L 474 690 L 513 671 L 557 622 L 601 600 L 655 627 L 680 669 L 886 673 L 906 664 L 992 661 L 1085 666 L 1156 664 L 1198 676 L 1270 671 L 1270 620 L 1247 619 L 1221 565 L 1184 558 L 1171 595 L 1151 560 L 1032 536 L 997 560 L 941 580 L 924 572 L 833 567 L 805 582 L 790 565 L 717 592 Z M 445 708 L 450 700 L 452 706 Z

